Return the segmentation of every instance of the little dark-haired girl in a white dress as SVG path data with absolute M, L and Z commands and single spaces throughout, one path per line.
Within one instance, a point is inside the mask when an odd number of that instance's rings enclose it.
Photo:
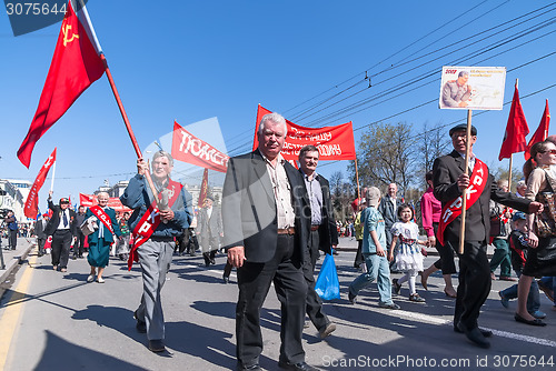
M 419 297 L 415 290 L 415 279 L 419 271 L 423 271 L 423 254 L 418 244 L 427 244 L 426 241 L 419 241 L 419 227 L 413 221 L 414 211 L 407 204 L 400 204 L 398 208 L 398 218 L 400 222 L 394 223 L 391 227 L 393 241 L 388 250 L 388 260 L 394 260 L 394 249 L 399 239 L 398 250 L 396 251 L 396 268 L 406 274 L 399 280 L 393 280 L 394 292 L 399 294 L 401 283 L 409 284 L 409 300 L 418 303 L 424 303 L 425 299 Z

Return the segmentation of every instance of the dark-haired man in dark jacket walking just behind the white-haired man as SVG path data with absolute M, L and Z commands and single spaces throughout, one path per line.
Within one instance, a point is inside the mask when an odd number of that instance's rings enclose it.
M 338 232 L 330 202 L 330 186 L 325 177 L 317 173 L 318 159 L 319 152 L 315 146 L 305 146 L 299 151 L 299 171 L 304 177 L 311 208 L 311 232 L 304 254 L 304 275 L 307 281 L 306 310 L 320 338 L 324 339 L 336 330 L 336 324 L 322 311 L 322 300 L 315 291 L 315 264 L 319 250 L 332 253 L 332 248 L 338 244 Z

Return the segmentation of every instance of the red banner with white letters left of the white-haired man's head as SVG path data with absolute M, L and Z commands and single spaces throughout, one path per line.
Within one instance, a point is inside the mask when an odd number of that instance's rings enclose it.
M 228 168 L 229 157 L 227 154 L 195 137 L 176 121 L 173 121 L 171 156 L 176 160 L 205 169 L 226 172 Z

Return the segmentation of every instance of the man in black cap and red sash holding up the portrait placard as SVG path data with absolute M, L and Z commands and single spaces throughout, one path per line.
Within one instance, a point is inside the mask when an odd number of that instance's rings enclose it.
M 481 348 L 489 348 L 490 343 L 485 337 L 490 337 L 492 332 L 479 330 L 477 324 L 480 307 L 490 292 L 492 283 L 486 254 L 490 231 L 489 200 L 524 212 L 538 212 L 543 205 L 498 189 L 486 164 L 473 153 L 473 144 L 477 141 L 475 127 L 471 127 L 468 153 L 471 174 L 465 174 L 466 128 L 466 124 L 459 124 L 450 129 L 454 151 L 436 159 L 433 166 L 434 194 L 443 204 L 438 239 L 440 243 L 458 251 L 461 223 L 460 197 L 463 190 L 467 188 L 464 253 L 458 253 L 459 285 L 454 331 L 464 332 L 471 342 Z

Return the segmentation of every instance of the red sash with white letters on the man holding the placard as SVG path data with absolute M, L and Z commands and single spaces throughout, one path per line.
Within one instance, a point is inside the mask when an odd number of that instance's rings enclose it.
M 467 202 L 465 204 L 466 210 L 479 199 L 480 194 L 485 190 L 487 183 L 488 168 L 479 159 L 475 159 L 475 167 L 473 168 L 471 178 L 469 179 L 470 184 L 467 188 L 466 198 Z M 438 223 L 438 242 L 444 245 L 444 231 L 449 223 L 451 223 L 457 217 L 461 214 L 461 195 L 445 204 L 443 212 L 440 214 L 440 222 Z

